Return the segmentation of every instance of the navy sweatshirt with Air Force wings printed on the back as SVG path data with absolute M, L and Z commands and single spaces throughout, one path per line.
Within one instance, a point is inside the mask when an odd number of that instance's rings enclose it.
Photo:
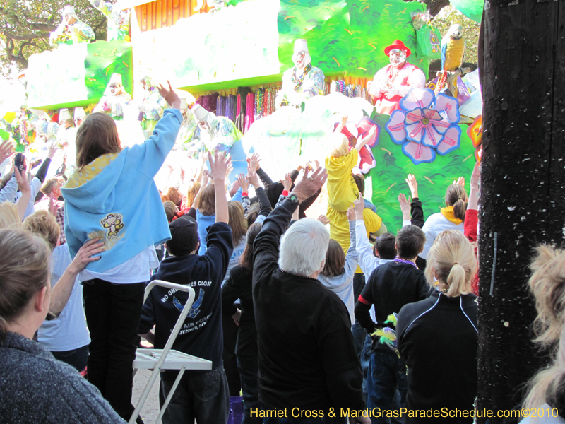
M 232 229 L 226 223 L 208 227 L 206 254 L 164 259 L 152 280 L 191 285 L 196 298 L 179 331 L 173 349 L 222 365 L 223 333 L 221 284 L 233 251 Z M 155 348 L 165 347 L 184 307 L 188 293 L 155 287 L 143 305 L 139 333 L 155 324 Z

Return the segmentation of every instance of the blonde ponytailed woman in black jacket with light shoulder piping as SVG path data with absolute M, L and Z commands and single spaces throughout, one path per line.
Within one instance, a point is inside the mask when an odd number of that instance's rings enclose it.
M 473 407 L 478 344 L 471 280 L 476 271 L 472 245 L 462 232 L 445 230 L 436 237 L 426 278 L 437 290 L 426 300 L 405 305 L 396 325 L 398 351 L 408 367 L 408 409 Z M 407 417 L 405 423 L 421 421 Z M 472 418 L 446 422 L 472 423 Z

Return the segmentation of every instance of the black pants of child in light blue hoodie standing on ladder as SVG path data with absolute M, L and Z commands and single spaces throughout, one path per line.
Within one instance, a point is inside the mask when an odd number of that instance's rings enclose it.
M 145 283 L 113 284 L 99 279 L 83 283 L 90 331 L 88 381 L 125 420 L 133 412 L 131 364 L 136 357 L 143 290 Z

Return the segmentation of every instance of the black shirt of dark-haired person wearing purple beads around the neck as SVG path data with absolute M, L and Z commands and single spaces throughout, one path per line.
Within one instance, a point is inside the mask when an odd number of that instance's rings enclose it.
M 388 315 L 400 312 L 407 303 L 417 302 L 429 296 L 431 289 L 426 283 L 424 271 L 410 264 L 387 262 L 375 269 L 355 302 L 355 318 L 369 334 L 387 326 Z M 375 308 L 376 323 L 369 309 Z M 374 338 L 373 350 L 389 351 L 388 346 Z

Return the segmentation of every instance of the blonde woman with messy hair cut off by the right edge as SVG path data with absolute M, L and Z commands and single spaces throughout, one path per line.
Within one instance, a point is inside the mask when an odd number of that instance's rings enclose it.
M 533 377 L 529 384 L 526 408 L 537 408 L 537 416 L 521 423 L 565 423 L 565 251 L 537 247 L 530 264 L 533 275 L 530 291 L 535 296 L 535 342 L 553 348 L 552 363 Z M 543 412 L 540 413 L 543 409 Z

